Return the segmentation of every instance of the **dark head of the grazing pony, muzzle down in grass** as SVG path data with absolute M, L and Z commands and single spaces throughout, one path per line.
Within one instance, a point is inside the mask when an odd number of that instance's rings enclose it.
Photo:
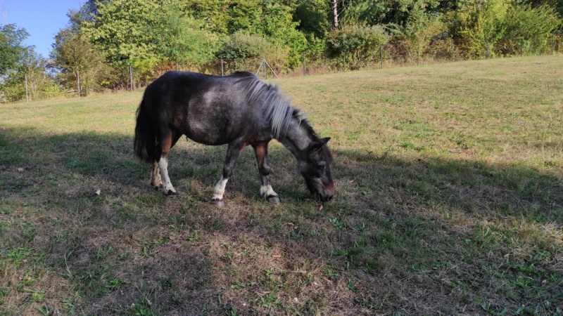
M 334 183 L 330 173 L 332 154 L 327 146 L 329 137 L 312 142 L 305 150 L 305 157 L 298 163 L 299 172 L 305 178 L 312 198 L 320 202 L 334 196 Z

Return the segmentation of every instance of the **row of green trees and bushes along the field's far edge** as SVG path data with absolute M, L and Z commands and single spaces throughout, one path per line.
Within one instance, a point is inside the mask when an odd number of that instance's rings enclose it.
M 307 60 L 362 67 L 384 45 L 406 55 L 457 40 L 464 58 L 545 53 L 562 27 L 563 0 L 88 0 L 44 57 L 29 34 L 0 27 L 2 100 L 127 86 L 182 63 L 206 72 L 217 58 L 264 56 L 281 72 Z M 328 66 L 327 66 L 328 67 Z M 27 79 L 27 80 L 26 80 Z

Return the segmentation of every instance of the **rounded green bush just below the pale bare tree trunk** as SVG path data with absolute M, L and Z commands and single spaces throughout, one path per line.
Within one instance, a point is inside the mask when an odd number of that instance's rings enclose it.
M 379 25 L 344 25 L 329 35 L 327 46 L 332 56 L 346 54 L 352 65 L 358 65 L 360 60 L 376 56 L 388 39 L 387 32 Z

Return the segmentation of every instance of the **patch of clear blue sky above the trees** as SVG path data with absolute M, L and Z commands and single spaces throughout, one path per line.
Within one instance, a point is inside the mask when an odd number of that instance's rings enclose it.
M 85 0 L 0 0 L 0 8 L 9 23 L 23 27 L 30 37 L 24 44 L 35 46 L 35 51 L 49 58 L 51 44 L 59 29 L 68 24 L 68 10 L 78 9 Z M 0 25 L 6 25 L 0 13 Z

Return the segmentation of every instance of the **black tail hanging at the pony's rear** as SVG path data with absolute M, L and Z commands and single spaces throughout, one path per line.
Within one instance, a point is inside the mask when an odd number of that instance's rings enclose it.
M 151 124 L 151 119 L 144 107 L 145 100 L 141 101 L 137 109 L 137 125 L 135 126 L 135 139 L 133 147 L 135 155 L 145 162 L 155 162 L 156 135 Z

